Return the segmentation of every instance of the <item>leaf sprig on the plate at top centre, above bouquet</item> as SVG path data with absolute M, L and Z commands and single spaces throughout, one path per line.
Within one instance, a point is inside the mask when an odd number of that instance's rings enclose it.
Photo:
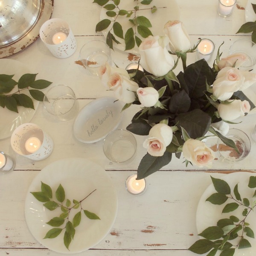
M 151 10 L 151 13 L 157 11 L 156 6 L 148 7 L 145 9 L 140 9 L 140 5 L 149 5 L 152 0 L 142 0 L 134 1 L 136 5 L 133 10 L 124 10 L 119 8 L 120 0 L 94 0 L 93 3 L 97 3 L 99 6 L 103 6 L 106 9 L 106 15 L 112 19 L 103 19 L 99 21 L 96 25 L 96 32 L 101 32 L 107 29 L 109 26 L 112 26 L 108 32 L 106 43 L 108 46 L 113 49 L 113 42 L 120 44 L 116 39 L 118 38 L 125 40 L 125 50 L 130 50 L 134 48 L 135 42 L 139 47 L 141 44 L 141 39 L 137 36 L 137 33 L 143 37 L 147 38 L 149 35 L 152 35 L 149 28 L 152 27 L 150 21 L 145 16 L 140 16 L 137 13 L 141 10 Z M 165 8 L 165 7 L 162 7 Z M 123 32 L 121 24 L 117 21 L 119 16 L 125 16 L 129 19 L 131 27 L 125 32 Z

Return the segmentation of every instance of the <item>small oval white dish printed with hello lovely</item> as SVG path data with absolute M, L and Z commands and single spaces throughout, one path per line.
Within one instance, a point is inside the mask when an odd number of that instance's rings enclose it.
M 122 104 L 115 98 L 95 99 L 76 116 L 73 133 L 83 143 L 94 143 L 105 138 L 122 120 Z

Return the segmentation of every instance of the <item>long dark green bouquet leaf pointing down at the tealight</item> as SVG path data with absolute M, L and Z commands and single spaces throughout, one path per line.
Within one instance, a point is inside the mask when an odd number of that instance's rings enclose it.
M 141 180 L 148 175 L 160 170 L 163 166 L 166 166 L 172 160 L 172 153 L 165 151 L 161 157 L 153 157 L 150 154 L 145 154 L 145 156 L 140 161 L 138 167 L 137 179 Z

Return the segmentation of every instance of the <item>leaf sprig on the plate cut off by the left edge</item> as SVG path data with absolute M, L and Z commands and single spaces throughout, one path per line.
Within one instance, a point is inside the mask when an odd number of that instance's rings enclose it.
M 35 80 L 37 74 L 24 74 L 18 81 L 12 79 L 13 76 L 0 74 L 0 106 L 16 113 L 18 113 L 17 106 L 35 109 L 32 98 L 42 102 L 44 93 L 41 90 L 52 84 L 43 79 Z M 16 85 L 17 91 L 11 93 Z M 22 93 L 23 90 L 28 90 L 32 98 Z

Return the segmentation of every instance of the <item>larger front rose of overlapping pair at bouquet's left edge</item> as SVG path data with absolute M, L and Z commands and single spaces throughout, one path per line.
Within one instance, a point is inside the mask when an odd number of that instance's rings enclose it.
M 120 101 L 132 103 L 136 99 L 135 93 L 139 86 L 136 82 L 131 81 L 130 77 L 114 73 L 110 76 L 108 84 Z

